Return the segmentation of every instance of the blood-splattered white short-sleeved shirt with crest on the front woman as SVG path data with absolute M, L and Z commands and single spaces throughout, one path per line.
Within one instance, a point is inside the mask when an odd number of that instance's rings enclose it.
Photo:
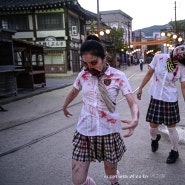
M 108 67 L 101 78 L 109 97 L 113 102 L 121 91 L 122 95 L 132 93 L 125 74 L 113 67 Z M 77 123 L 77 131 L 85 136 L 106 135 L 121 131 L 121 121 L 118 110 L 111 113 L 106 107 L 98 90 L 98 78 L 88 71 L 81 71 L 74 87 L 82 90 L 82 110 Z

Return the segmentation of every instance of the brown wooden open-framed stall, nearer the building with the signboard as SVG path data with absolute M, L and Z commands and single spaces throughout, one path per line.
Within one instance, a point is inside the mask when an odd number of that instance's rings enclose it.
M 15 65 L 23 69 L 17 76 L 18 88 L 44 87 L 46 85 L 43 46 L 13 39 Z

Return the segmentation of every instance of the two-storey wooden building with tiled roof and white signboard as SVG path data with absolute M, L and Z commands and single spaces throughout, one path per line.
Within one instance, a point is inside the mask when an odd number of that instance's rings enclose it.
M 14 38 L 42 45 L 45 72 L 79 72 L 79 48 L 85 23 L 97 15 L 77 0 L 1 0 L 0 28 L 15 30 Z

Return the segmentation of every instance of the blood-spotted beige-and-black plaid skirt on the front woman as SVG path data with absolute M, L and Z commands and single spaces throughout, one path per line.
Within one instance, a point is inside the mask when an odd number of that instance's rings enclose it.
M 84 136 L 75 132 L 72 159 L 77 161 L 108 161 L 112 164 L 121 160 L 126 147 L 120 133 L 103 136 Z

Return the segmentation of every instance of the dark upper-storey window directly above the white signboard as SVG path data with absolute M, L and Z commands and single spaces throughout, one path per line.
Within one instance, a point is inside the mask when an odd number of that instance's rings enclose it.
M 37 15 L 39 30 L 59 30 L 64 28 L 61 13 L 49 13 Z

